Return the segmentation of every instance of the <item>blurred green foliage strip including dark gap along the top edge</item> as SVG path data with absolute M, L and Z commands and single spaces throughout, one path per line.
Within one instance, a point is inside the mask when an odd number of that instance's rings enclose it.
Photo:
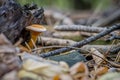
M 101 5 L 101 9 L 110 6 L 115 0 L 18 0 L 21 4 L 36 3 L 39 6 L 51 7 L 61 10 L 95 9 Z

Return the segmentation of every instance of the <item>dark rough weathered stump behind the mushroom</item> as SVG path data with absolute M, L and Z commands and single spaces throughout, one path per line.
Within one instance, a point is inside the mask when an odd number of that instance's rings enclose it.
M 32 10 L 34 12 L 32 13 Z M 25 27 L 33 23 L 44 22 L 44 10 L 31 5 L 21 6 L 14 0 L 0 1 L 0 33 L 3 33 L 12 43 L 19 40 L 29 41 L 30 32 Z

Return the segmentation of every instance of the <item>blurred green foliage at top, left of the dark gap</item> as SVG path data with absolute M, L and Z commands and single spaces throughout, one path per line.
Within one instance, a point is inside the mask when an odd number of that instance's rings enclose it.
M 43 7 L 56 7 L 61 9 L 71 9 L 73 7 L 73 0 L 17 0 L 20 4 L 35 3 Z

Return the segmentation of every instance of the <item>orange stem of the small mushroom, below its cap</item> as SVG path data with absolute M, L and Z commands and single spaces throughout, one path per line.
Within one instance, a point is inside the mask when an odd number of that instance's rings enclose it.
M 28 42 L 28 45 L 32 49 L 34 47 L 34 44 L 32 40 L 36 43 L 37 37 L 40 35 L 40 32 L 33 32 L 31 31 L 31 40 Z

